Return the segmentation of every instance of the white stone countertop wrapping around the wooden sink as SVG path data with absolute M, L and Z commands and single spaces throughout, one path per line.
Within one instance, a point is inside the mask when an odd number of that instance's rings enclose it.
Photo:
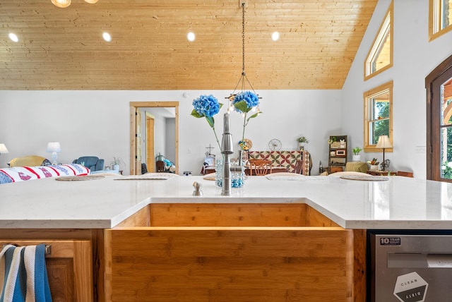
M 149 203 L 307 203 L 346 229 L 452 229 L 452 183 L 390 176 L 352 181 L 250 176 L 222 196 L 202 176 L 168 180 L 40 179 L 0 185 L 0 228 L 107 229 Z M 203 196 L 193 196 L 193 183 Z

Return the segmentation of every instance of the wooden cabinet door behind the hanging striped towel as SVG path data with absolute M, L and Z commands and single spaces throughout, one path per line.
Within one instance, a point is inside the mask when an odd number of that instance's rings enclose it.
M 52 301 L 93 301 L 93 255 L 89 240 L 1 240 L 0 246 L 50 246 L 46 255 Z

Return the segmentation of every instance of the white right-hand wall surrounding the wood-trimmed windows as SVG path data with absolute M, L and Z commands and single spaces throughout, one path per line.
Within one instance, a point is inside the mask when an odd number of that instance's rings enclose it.
M 364 59 L 390 3 L 379 0 L 343 86 L 342 127 L 353 147 L 362 146 L 363 92 L 393 80 L 393 153 L 385 157 L 391 160 L 390 169 L 411 170 L 425 179 L 426 155 L 415 152 L 416 146 L 426 145 L 425 77 L 452 54 L 452 32 L 428 42 L 429 1 L 394 1 L 393 67 L 364 82 Z M 381 160 L 382 154 L 362 157 Z

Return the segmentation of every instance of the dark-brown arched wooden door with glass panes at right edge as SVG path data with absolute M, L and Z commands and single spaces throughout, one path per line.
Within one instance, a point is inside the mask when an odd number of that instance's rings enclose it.
M 427 179 L 452 182 L 452 56 L 425 78 Z

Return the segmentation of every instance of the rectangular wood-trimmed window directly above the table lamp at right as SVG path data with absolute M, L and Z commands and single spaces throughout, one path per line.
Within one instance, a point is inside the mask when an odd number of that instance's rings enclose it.
M 393 81 L 364 92 L 364 152 L 380 152 L 376 143 L 381 135 L 388 135 L 393 145 Z

